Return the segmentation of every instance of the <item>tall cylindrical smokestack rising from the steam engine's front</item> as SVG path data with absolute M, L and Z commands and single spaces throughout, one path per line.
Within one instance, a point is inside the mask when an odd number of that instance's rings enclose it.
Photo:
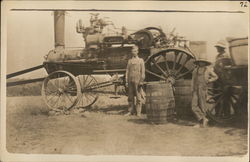
M 65 11 L 54 11 L 55 48 L 64 48 Z

